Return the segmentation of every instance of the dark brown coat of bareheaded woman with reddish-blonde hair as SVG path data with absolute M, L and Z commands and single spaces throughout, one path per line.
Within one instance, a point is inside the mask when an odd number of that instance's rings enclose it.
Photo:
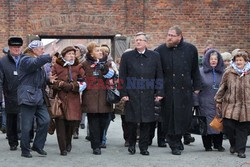
M 86 61 L 83 62 L 82 67 L 86 73 L 87 88 L 82 93 L 82 107 L 85 113 L 109 113 L 112 112 L 112 105 L 106 100 L 107 90 L 105 83 L 107 79 L 104 75 L 107 73 L 97 70 L 99 76 L 94 76 L 93 72 L 96 71 L 96 61 L 89 53 L 86 54 Z M 110 62 L 102 62 L 105 68 L 110 67 Z M 103 86 L 101 86 L 103 85 Z

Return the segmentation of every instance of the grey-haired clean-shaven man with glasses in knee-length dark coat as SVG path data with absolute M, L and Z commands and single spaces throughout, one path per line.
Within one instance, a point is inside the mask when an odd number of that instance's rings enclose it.
M 150 123 L 154 122 L 154 101 L 163 98 L 163 76 L 158 53 L 146 48 L 146 34 L 135 36 L 136 49 L 125 52 L 121 58 L 120 79 L 124 82 L 121 97 L 125 104 L 128 122 L 129 148 L 135 154 L 136 129 L 140 123 L 139 148 L 142 155 L 149 155 Z

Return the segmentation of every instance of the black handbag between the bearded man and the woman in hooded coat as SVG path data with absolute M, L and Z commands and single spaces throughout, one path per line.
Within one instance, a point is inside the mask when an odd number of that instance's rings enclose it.
M 193 118 L 188 132 L 197 135 L 207 134 L 207 119 L 205 116 L 201 116 L 200 110 L 197 107 L 193 109 Z

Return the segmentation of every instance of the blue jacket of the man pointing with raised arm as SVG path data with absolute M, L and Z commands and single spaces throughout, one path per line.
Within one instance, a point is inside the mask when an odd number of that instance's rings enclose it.
M 50 55 L 41 55 L 37 58 L 22 56 L 18 68 L 19 86 L 17 89 L 18 104 L 30 106 L 44 103 L 46 87 L 46 73 L 43 65 L 51 62 Z

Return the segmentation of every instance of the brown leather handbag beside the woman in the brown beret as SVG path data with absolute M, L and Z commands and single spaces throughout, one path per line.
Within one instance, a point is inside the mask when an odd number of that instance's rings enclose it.
M 55 98 L 50 99 L 50 117 L 51 118 L 58 118 L 63 115 L 62 112 L 62 101 L 58 97 L 58 94 L 56 94 Z

